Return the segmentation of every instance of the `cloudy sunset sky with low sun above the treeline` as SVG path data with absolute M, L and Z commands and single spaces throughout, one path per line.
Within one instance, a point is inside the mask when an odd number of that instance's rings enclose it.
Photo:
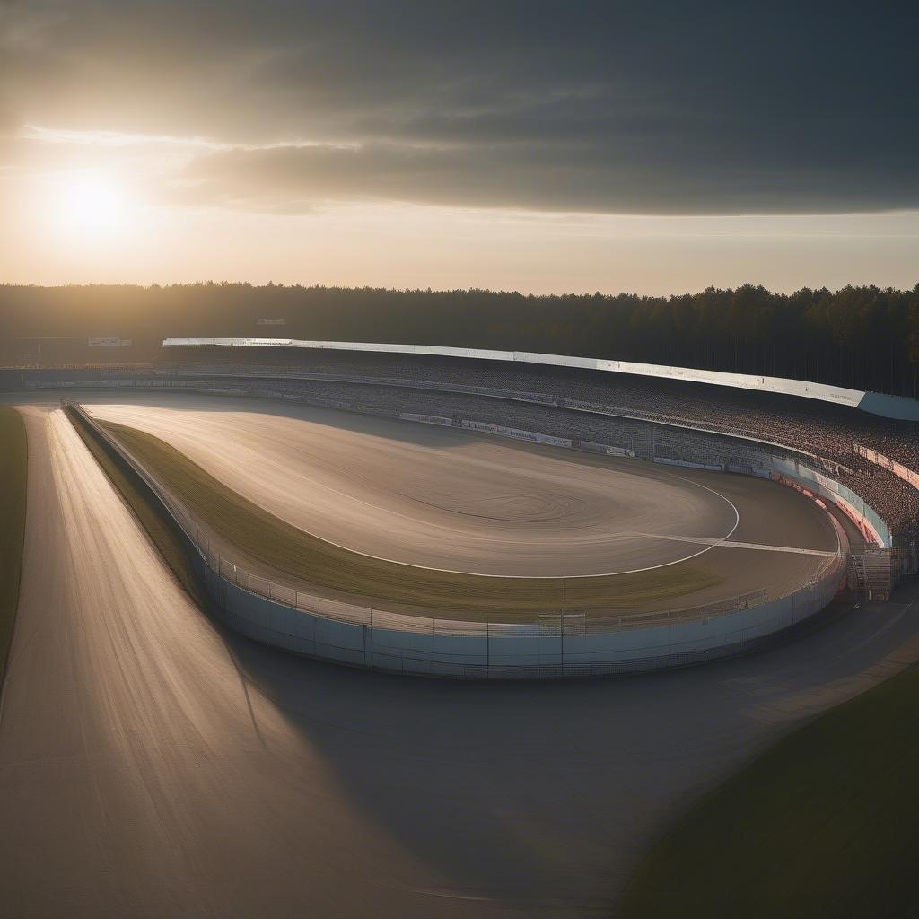
M 0 0 L 0 281 L 919 281 L 914 4 Z

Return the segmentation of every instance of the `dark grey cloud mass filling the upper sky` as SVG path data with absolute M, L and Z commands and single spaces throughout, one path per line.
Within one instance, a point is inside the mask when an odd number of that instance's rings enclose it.
M 232 144 L 187 166 L 181 193 L 197 200 L 267 210 L 328 199 L 644 213 L 919 206 L 912 5 L 11 9 L 0 19 L 0 110 Z M 303 141 L 316 145 L 293 145 Z

